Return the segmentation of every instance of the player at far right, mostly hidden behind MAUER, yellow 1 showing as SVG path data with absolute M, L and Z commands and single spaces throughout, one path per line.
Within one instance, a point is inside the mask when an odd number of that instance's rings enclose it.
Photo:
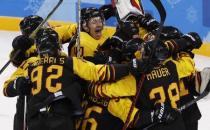
M 152 21 L 155 21 L 154 19 Z M 155 22 L 158 24 L 158 22 Z M 154 27 L 153 27 L 154 29 Z M 183 34 L 179 31 L 179 29 L 172 27 L 172 26 L 166 26 L 163 28 L 161 39 L 163 40 L 169 40 L 174 38 L 181 38 Z M 193 33 L 191 33 L 193 35 Z M 202 41 L 199 41 L 202 43 Z M 201 45 L 198 45 L 196 48 L 198 49 Z M 192 53 L 192 48 L 188 48 L 186 50 L 182 50 L 191 55 L 191 57 L 194 57 L 194 54 Z M 182 53 L 174 54 L 173 59 L 179 60 L 180 55 Z M 185 77 L 180 80 L 179 84 L 179 90 L 180 90 L 180 103 L 181 106 L 185 105 L 189 101 L 194 99 L 194 96 L 197 96 L 195 92 L 195 76 L 194 74 L 190 75 L 189 77 Z M 185 122 L 186 130 L 197 130 L 198 129 L 198 120 L 201 118 L 201 113 L 198 108 L 198 105 L 195 103 L 189 108 L 182 111 L 182 116 Z

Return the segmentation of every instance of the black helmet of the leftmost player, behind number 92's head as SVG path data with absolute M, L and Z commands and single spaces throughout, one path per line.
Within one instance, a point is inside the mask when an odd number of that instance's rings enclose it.
M 24 35 L 30 35 L 43 21 L 43 18 L 38 15 L 29 15 L 20 21 L 19 27 Z

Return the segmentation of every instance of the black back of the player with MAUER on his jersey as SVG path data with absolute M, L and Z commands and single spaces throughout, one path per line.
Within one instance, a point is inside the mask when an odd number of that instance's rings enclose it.
M 155 104 L 164 102 L 172 108 L 180 107 L 180 93 L 178 87 L 178 73 L 176 65 L 169 61 L 159 65 L 145 74 L 145 80 L 140 90 L 137 107 L 140 110 L 154 110 Z M 185 130 L 181 115 L 170 124 L 157 124 L 149 130 Z

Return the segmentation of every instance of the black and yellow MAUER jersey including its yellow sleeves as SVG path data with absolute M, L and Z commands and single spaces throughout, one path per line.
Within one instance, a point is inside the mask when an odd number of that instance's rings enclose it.
M 150 72 L 145 73 L 145 79 L 136 102 L 136 108 L 140 111 L 143 111 L 144 109 L 153 110 L 154 105 L 160 102 L 165 102 L 172 108 L 179 108 L 181 106 L 179 80 L 194 72 L 194 61 L 189 55 L 184 54 L 179 61 L 168 60 L 164 64 L 156 66 Z M 126 96 L 135 96 L 136 90 L 139 89 L 136 82 L 138 83 L 139 81 L 132 80 L 132 75 L 130 76 L 131 77 L 124 77 L 114 83 L 95 85 L 95 87 L 92 87 L 89 92 L 98 98 L 122 98 Z M 128 82 L 129 78 L 131 79 L 130 82 Z M 125 89 L 120 90 L 120 87 Z M 130 108 L 128 107 L 128 109 Z M 112 109 L 109 110 L 112 111 Z M 117 117 L 121 120 L 127 117 L 127 115 L 120 116 L 121 117 Z M 132 122 L 132 120 L 133 119 L 131 118 L 130 122 Z

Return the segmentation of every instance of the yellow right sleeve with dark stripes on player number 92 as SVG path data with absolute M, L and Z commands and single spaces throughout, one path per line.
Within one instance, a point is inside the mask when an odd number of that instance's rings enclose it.
M 77 57 L 73 57 L 73 71 L 90 82 L 115 81 L 129 74 L 126 65 L 95 65 Z

